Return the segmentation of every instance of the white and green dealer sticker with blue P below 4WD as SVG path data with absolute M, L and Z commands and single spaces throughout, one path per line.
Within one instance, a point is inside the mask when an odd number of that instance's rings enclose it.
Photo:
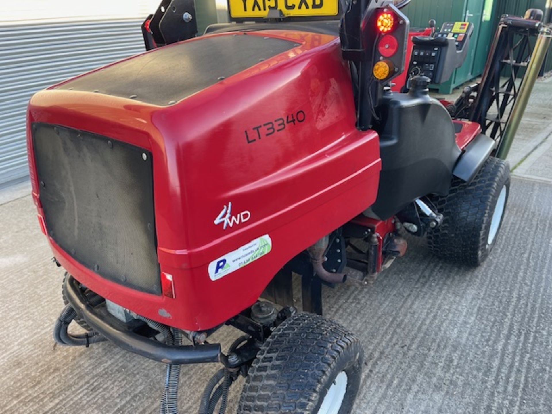
M 235 272 L 235 270 L 253 263 L 257 259 L 266 256 L 272 250 L 272 240 L 269 235 L 264 235 L 247 243 L 237 250 L 226 253 L 213 262 L 209 263 L 209 277 L 211 280 L 220 278 Z

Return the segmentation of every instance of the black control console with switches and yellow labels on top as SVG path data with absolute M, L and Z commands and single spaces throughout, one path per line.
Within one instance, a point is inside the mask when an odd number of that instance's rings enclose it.
M 447 22 L 433 36 L 413 37 L 408 78 L 427 76 L 434 84 L 448 81 L 454 70 L 463 65 L 473 31 L 471 23 Z

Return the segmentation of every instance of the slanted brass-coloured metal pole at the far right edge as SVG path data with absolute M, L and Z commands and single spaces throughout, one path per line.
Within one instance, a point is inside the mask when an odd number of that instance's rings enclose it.
M 546 1 L 547 8 L 549 7 L 549 4 L 552 4 L 552 0 Z M 512 147 L 512 142 L 514 137 L 516 137 L 516 132 L 519 128 L 519 124 L 521 123 L 521 119 L 523 118 L 523 113 L 527 109 L 531 92 L 533 92 L 533 87 L 535 86 L 535 82 L 539 76 L 540 67 L 543 65 L 546 52 L 548 52 L 550 40 L 552 40 L 552 29 L 550 26 L 543 26 L 539 37 L 537 38 L 537 43 L 535 44 L 535 49 L 533 50 L 529 66 L 527 67 L 527 73 L 523 78 L 521 88 L 519 88 L 519 94 L 516 99 L 516 103 L 514 103 L 512 115 L 508 120 L 504 135 L 498 145 L 498 150 L 496 152 L 496 156 L 498 158 L 505 160 L 508 156 L 510 148 Z

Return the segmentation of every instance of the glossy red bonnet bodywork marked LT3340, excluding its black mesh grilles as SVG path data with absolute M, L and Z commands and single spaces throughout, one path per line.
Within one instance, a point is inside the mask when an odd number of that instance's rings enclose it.
M 59 263 L 88 288 L 185 330 L 206 330 L 251 306 L 286 262 L 367 209 L 378 190 L 378 135 L 355 128 L 339 40 L 293 31 L 247 35 L 293 39 L 299 46 L 167 107 L 55 87 L 29 104 L 29 163 L 40 215 L 32 123 L 86 130 L 151 151 L 158 260 L 161 272 L 173 277 L 174 299 L 105 280 L 49 242 Z M 290 115 L 295 123 L 267 136 L 270 123 Z M 233 215 L 250 217 L 224 230 L 214 221 L 230 202 Z M 210 279 L 209 263 L 263 235 L 272 240 L 266 256 Z

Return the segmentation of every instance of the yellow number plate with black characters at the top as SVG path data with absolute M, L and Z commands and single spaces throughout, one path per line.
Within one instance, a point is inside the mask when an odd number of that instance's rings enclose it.
M 266 18 L 270 9 L 281 10 L 286 17 L 335 16 L 339 0 L 228 0 L 230 15 L 240 19 Z

